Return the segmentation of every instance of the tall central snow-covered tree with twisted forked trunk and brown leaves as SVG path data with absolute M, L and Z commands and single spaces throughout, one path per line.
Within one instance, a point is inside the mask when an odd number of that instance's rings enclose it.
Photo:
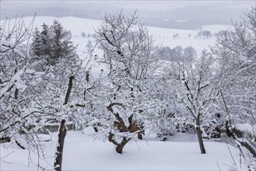
M 135 14 L 128 18 L 120 12 L 106 15 L 96 31 L 104 51 L 102 62 L 108 68 L 105 93 L 101 96 L 108 125 L 99 130 L 105 131 L 118 153 L 135 134 L 142 133 L 142 117 L 153 113 L 146 87 L 159 65 L 159 57 L 146 27 L 136 24 Z

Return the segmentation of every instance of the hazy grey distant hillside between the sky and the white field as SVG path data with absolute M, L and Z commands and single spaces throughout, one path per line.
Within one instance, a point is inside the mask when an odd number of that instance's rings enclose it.
M 1 2 L 1 19 L 15 18 L 16 16 L 75 16 L 86 19 L 102 19 L 107 12 L 118 12 L 121 7 L 110 4 L 86 3 L 70 4 L 69 2 L 23 3 Z M 135 9 L 122 9 L 131 14 Z M 157 26 L 172 29 L 198 30 L 203 25 L 223 24 L 230 25 L 231 18 L 237 19 L 241 10 L 226 8 L 216 3 L 211 6 L 183 6 L 175 9 L 149 10 L 137 9 L 139 19 L 148 26 Z M 183 21 L 183 22 L 181 22 Z

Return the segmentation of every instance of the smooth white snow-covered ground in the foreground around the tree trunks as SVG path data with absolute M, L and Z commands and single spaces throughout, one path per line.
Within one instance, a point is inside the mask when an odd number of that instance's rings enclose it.
M 94 139 L 91 129 L 68 131 L 65 138 L 63 170 L 232 170 L 233 158 L 239 163 L 237 148 L 226 143 L 205 141 L 206 154 L 200 154 L 196 136 L 177 134 L 168 141 L 157 138 L 133 140 L 124 147 L 122 155 L 117 154 L 114 145 Z M 57 134 L 52 134 L 52 141 L 44 142 L 45 158 L 40 160 L 42 166 L 53 168 Z M 12 143 L 0 145 L 0 170 L 35 170 L 37 166 L 28 162 L 29 151 Z M 37 164 L 36 155 L 31 152 L 33 162 Z M 7 163 L 9 162 L 9 163 Z M 237 166 L 239 169 L 239 166 Z

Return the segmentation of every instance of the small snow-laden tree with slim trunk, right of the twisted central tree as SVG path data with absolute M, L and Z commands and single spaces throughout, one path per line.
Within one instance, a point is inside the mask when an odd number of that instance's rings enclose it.
M 191 126 L 195 127 L 202 154 L 205 153 L 202 138 L 207 136 L 203 125 L 215 114 L 215 101 L 218 97 L 214 61 L 209 53 L 203 51 L 200 58 L 194 62 L 181 59 L 168 66 L 174 68 L 170 69 L 169 73 L 176 103 L 181 109 L 187 110 L 183 110 L 186 113 L 183 113 L 183 117 L 191 120 Z

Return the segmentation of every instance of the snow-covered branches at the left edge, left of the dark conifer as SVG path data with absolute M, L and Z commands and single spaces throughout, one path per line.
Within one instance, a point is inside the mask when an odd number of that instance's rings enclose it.
M 33 106 L 37 94 L 33 92 L 40 91 L 34 88 L 44 73 L 32 68 L 33 60 L 27 47 L 32 23 L 26 26 L 23 19 L 16 19 L 14 23 L 6 20 L 1 26 L 0 138 L 15 141 L 21 148 L 37 150 L 38 154 L 42 154 L 36 134 L 40 112 L 37 113 Z M 26 143 L 21 143 L 21 138 Z

